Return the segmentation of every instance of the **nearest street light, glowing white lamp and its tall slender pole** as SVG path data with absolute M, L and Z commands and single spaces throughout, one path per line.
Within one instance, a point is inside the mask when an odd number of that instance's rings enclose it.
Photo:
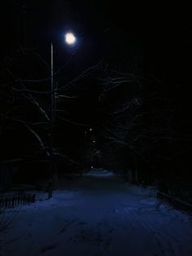
M 72 32 L 64 34 L 65 42 L 68 46 L 76 44 L 76 36 Z M 55 82 L 54 82 L 54 45 L 50 44 L 50 162 L 52 175 L 55 174 L 55 164 L 53 161 L 53 125 L 55 119 Z M 56 179 L 53 177 L 53 179 Z

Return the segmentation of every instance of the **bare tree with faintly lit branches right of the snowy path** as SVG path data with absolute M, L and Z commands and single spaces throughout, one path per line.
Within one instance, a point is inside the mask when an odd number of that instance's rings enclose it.
M 126 152 L 129 157 L 124 161 L 134 169 L 136 182 L 145 176 L 138 174 L 142 166 L 156 172 L 163 162 L 190 150 L 191 135 L 172 126 L 177 113 L 162 82 L 119 72 L 110 73 L 102 82 L 107 103 L 103 125 L 106 148 L 110 145 L 116 152 Z

